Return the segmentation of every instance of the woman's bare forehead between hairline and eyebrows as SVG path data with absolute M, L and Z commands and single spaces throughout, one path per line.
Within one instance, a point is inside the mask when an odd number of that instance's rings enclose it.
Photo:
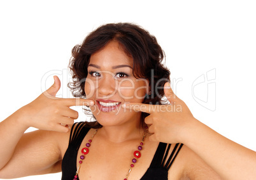
M 113 67 L 114 65 L 129 65 L 132 67 L 132 57 L 127 56 L 119 42 L 111 41 L 103 49 L 90 56 L 90 63 L 100 67 Z

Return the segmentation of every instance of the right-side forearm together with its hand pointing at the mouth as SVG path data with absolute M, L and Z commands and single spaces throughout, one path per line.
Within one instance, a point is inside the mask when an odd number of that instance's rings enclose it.
M 255 151 L 234 143 L 195 119 L 167 83 L 164 93 L 171 105 L 123 105 L 124 108 L 150 113 L 145 122 L 153 134 L 149 138 L 151 141 L 187 145 L 222 179 L 255 179 Z

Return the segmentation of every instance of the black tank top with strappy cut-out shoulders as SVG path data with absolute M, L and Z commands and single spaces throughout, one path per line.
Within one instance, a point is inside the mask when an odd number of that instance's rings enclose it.
M 76 127 L 74 124 L 71 128 L 69 146 L 62 160 L 62 180 L 74 179 L 76 174 L 76 158 L 78 155 L 78 150 L 83 141 L 83 138 L 85 138 L 85 135 L 90 129 L 89 127 L 86 127 L 84 122 L 78 122 L 76 124 Z M 167 159 L 167 154 L 171 148 L 171 144 L 167 145 L 166 143 L 159 143 L 150 167 L 148 170 L 146 170 L 144 176 L 141 177 L 141 180 L 168 179 L 168 170 L 173 164 L 182 146 L 183 144 L 176 144 L 173 151 L 171 152 L 171 155 Z

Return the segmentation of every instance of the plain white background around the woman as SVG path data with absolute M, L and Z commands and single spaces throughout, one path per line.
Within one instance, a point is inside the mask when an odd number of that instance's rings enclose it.
M 58 96 L 71 97 L 66 69 L 73 46 L 103 23 L 134 22 L 157 37 L 171 79 L 178 79 L 174 91 L 194 117 L 256 150 L 255 10 L 254 1 L 1 1 L 0 120 L 50 87 L 55 74 L 63 87 Z M 210 70 L 212 83 L 192 91 Z M 81 107 L 74 109 L 84 120 Z

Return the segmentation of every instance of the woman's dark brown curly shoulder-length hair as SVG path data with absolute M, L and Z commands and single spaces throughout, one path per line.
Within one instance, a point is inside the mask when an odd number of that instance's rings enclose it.
M 155 36 L 134 23 L 108 23 L 98 27 L 85 37 L 82 44 L 72 49 L 69 69 L 73 82 L 68 86 L 75 97 L 86 98 L 85 79 L 90 56 L 104 48 L 110 41 L 117 41 L 127 56 L 133 59 L 132 74 L 136 78 L 149 80 L 152 94 L 146 94 L 143 103 L 163 104 L 164 84 L 169 81 L 169 70 L 164 67 L 164 51 L 157 43 Z M 85 109 L 86 110 L 86 109 Z M 87 109 L 89 110 L 89 109 Z M 141 113 L 141 124 L 144 124 L 148 113 Z M 95 117 L 92 115 L 95 120 Z M 97 120 L 87 123 L 90 127 L 102 127 Z

